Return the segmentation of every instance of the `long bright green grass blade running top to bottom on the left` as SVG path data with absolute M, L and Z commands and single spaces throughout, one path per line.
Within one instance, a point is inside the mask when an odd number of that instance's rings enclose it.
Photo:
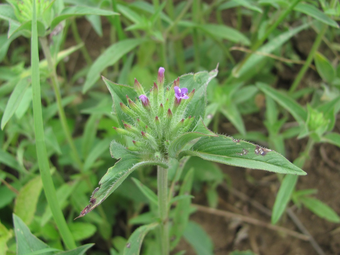
M 70 229 L 67 226 L 63 212 L 59 206 L 52 176 L 50 173 L 50 165 L 48 162 L 47 150 L 44 137 L 43 114 L 41 109 L 40 94 L 40 73 L 39 73 L 39 53 L 38 53 L 38 31 L 36 18 L 36 0 L 33 1 L 32 15 L 32 43 L 31 43 L 31 66 L 32 66 L 32 92 L 33 92 L 33 118 L 35 146 L 41 181 L 46 195 L 46 199 L 51 208 L 53 218 L 58 227 L 60 235 L 67 249 L 75 249 L 77 245 L 74 242 Z

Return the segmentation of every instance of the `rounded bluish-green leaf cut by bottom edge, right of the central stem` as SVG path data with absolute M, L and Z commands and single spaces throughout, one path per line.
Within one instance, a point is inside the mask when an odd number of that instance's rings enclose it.
M 204 229 L 196 222 L 189 221 L 184 238 L 190 243 L 197 255 L 213 255 L 214 244 Z

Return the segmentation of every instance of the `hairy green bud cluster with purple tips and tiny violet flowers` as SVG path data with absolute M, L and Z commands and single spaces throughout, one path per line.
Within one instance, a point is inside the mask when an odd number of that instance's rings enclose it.
M 127 105 L 120 103 L 128 118 L 123 120 L 124 129 L 114 127 L 119 134 L 134 139 L 134 147 L 129 149 L 153 152 L 157 158 L 166 153 L 176 137 L 189 130 L 194 118 L 185 115 L 194 90 L 188 94 L 187 88 L 180 88 L 180 78 L 165 87 L 164 72 L 163 67 L 158 69 L 157 81 L 148 93 L 135 79 L 136 100 L 126 96 Z

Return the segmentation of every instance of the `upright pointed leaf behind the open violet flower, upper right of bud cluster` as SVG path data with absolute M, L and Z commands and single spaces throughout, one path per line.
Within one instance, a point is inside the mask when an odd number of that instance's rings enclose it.
M 216 69 L 207 72 L 198 72 L 198 73 L 188 73 L 184 74 L 180 77 L 180 87 L 187 88 L 188 91 L 192 91 L 195 89 L 195 94 L 187 106 L 186 116 L 195 116 L 204 117 L 205 114 L 205 106 L 206 106 L 206 89 L 208 83 L 216 77 L 218 70 L 218 66 Z M 192 127 L 195 125 L 195 122 L 192 123 Z

